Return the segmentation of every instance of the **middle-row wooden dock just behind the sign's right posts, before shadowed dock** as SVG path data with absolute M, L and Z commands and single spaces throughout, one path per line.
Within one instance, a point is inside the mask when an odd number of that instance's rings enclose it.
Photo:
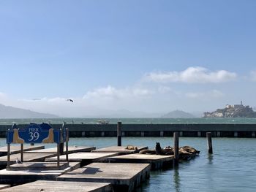
M 85 166 L 92 162 L 103 162 L 108 157 L 116 155 L 118 153 L 72 153 L 69 155 L 69 162 L 80 162 L 81 166 Z M 60 161 L 66 161 L 66 155 L 61 155 L 59 159 Z M 45 161 L 57 161 L 57 157 L 46 158 Z

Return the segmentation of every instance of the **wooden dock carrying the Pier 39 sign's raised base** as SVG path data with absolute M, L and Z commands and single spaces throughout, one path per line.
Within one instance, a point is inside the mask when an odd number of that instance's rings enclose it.
M 36 180 L 56 180 L 61 174 L 71 172 L 78 169 L 80 163 L 70 162 L 69 167 L 64 170 L 26 170 L 26 171 L 8 171 L 7 169 L 0 170 L 1 183 L 5 184 L 23 184 Z

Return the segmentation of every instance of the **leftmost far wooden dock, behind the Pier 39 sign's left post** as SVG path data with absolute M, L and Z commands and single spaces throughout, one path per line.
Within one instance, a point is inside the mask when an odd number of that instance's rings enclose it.
M 23 151 L 29 150 L 41 150 L 44 149 L 44 145 L 23 145 Z M 11 145 L 11 154 L 20 153 L 20 145 Z M 0 156 L 7 155 L 7 146 L 0 147 Z

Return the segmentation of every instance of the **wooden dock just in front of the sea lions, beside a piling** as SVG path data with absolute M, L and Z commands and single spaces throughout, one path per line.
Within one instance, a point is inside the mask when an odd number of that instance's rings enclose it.
M 107 158 L 110 163 L 140 163 L 151 164 L 151 169 L 161 169 L 173 165 L 173 155 L 128 154 Z

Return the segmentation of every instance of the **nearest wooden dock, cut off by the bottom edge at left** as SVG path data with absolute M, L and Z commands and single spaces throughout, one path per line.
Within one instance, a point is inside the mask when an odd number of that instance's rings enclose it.
M 88 183 L 88 182 L 64 182 L 64 181 L 45 181 L 37 180 L 32 183 L 18 185 L 12 188 L 7 188 L 2 191 L 19 191 L 19 192 L 34 192 L 34 191 L 94 191 L 94 192 L 110 192 L 113 191 L 110 183 Z

